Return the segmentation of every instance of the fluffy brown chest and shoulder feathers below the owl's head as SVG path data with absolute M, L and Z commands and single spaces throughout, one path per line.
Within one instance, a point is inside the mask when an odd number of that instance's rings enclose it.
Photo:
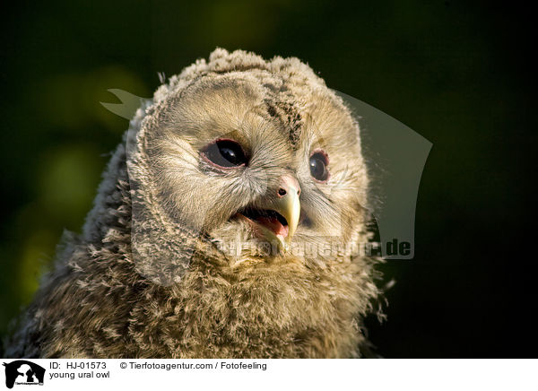
M 111 256 L 104 254 L 102 256 Z M 104 264 L 103 264 L 104 265 Z M 82 266 L 83 267 L 83 266 Z M 51 280 L 34 318 L 46 357 L 292 358 L 356 357 L 360 283 L 333 273 L 258 267 L 215 273 L 194 261 L 170 286 L 133 279 L 132 267 L 92 263 Z M 125 276 L 129 280 L 125 280 Z M 90 277 L 91 276 L 91 277 Z M 100 276 L 96 278 L 96 276 Z M 123 276 L 123 277 L 122 277 Z M 122 278 L 124 278 L 122 280 Z M 73 308 L 77 308 L 76 311 Z

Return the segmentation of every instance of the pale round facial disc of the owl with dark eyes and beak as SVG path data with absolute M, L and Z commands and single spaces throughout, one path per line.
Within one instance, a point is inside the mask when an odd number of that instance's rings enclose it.
M 246 259 L 319 259 L 362 230 L 359 129 L 324 84 L 207 74 L 157 107 L 143 149 L 174 222 Z M 307 254 L 308 253 L 308 254 Z

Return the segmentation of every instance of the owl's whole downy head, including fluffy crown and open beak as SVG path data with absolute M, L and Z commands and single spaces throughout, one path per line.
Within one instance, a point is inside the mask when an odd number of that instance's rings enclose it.
M 358 123 L 297 58 L 216 49 L 161 85 L 126 145 L 144 274 L 178 281 L 199 252 L 325 267 L 366 239 Z

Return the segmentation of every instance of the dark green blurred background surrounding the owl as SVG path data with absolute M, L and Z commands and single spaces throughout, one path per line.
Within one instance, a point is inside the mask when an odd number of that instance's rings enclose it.
M 28 303 L 62 230 L 79 231 L 125 131 L 103 109 L 149 97 L 216 46 L 299 56 L 326 83 L 433 143 L 416 256 L 384 267 L 386 357 L 534 352 L 534 64 L 516 4 L 334 1 L 17 3 L 0 63 L 0 331 Z

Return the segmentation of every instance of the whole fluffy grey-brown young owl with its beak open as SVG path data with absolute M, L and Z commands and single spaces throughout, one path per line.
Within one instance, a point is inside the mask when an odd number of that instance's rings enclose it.
M 380 294 L 358 123 L 297 58 L 216 49 L 138 109 L 10 357 L 360 357 Z M 308 251 L 314 248 L 314 251 Z

